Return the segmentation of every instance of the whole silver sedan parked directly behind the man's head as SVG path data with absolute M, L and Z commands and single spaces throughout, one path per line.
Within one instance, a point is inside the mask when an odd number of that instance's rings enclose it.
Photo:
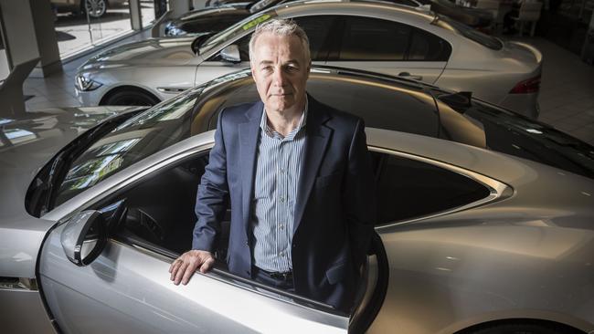
M 314 64 L 417 79 L 531 118 L 538 114 L 542 55 L 446 16 L 400 5 L 306 2 L 249 16 L 208 38 L 155 38 L 91 57 L 76 75 L 83 105 L 152 105 L 212 78 L 249 67 L 249 37 L 273 17 L 290 17 L 310 37 Z

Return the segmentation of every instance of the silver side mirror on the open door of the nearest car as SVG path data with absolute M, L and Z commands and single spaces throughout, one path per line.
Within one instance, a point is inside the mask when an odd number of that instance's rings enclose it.
M 103 216 L 95 210 L 76 214 L 64 227 L 60 242 L 70 262 L 88 266 L 101 254 L 107 242 Z

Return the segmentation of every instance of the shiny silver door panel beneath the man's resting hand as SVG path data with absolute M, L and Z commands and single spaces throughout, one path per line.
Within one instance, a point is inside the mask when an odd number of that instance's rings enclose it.
M 348 318 L 294 305 L 215 273 L 175 286 L 167 272 L 170 259 L 114 241 L 90 266 L 74 266 L 59 243 L 63 227 L 52 231 L 39 270 L 65 333 L 346 332 Z

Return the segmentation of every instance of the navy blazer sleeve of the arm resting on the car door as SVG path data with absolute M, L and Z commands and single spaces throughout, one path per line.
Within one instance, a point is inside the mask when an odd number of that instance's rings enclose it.
M 196 225 L 192 239 L 192 249 L 213 251 L 217 234 L 220 231 L 220 222 L 227 209 L 228 182 L 227 182 L 227 151 L 223 117 L 225 110 L 221 111 L 217 120 L 215 131 L 215 146 L 210 151 L 207 167 L 198 191 L 196 193 Z

